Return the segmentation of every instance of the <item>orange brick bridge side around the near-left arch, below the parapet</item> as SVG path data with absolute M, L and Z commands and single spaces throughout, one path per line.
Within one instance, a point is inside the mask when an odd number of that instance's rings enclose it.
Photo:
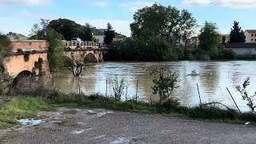
M 10 56 L 4 59 L 3 65 L 7 73 L 9 73 L 14 78 L 23 70 L 29 70 L 32 72 L 34 67 L 34 62 L 38 62 L 38 58 L 42 58 L 42 71 L 45 74 L 50 74 L 50 67 L 47 60 L 47 54 L 30 54 L 30 60 L 28 62 L 24 61 L 24 55 Z

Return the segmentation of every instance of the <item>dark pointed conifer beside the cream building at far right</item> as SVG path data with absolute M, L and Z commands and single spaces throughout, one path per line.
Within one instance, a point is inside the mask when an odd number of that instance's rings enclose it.
M 246 42 L 246 36 L 242 27 L 239 26 L 239 22 L 234 21 L 233 24 L 230 31 L 230 42 Z

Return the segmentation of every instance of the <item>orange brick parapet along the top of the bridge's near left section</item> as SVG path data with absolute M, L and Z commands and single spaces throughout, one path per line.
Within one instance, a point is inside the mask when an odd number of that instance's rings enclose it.
M 40 40 L 24 40 L 24 41 L 12 41 L 13 50 L 22 49 L 26 50 L 46 50 L 49 49 L 50 43 Z

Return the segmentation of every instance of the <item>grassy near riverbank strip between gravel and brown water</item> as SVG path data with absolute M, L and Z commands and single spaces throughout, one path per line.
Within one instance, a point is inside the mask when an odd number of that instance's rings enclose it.
M 256 114 L 238 113 L 236 110 L 224 110 L 215 105 L 186 107 L 173 103 L 163 106 L 150 105 L 134 100 L 120 102 L 105 98 L 98 94 L 90 96 L 78 94 L 58 94 L 50 98 L 19 96 L 1 107 L 0 128 L 18 125 L 18 119 L 35 118 L 38 111 L 53 111 L 58 107 L 103 108 L 107 110 L 126 111 L 138 114 L 161 114 L 167 117 L 198 119 L 206 122 L 229 122 L 244 124 L 256 123 Z

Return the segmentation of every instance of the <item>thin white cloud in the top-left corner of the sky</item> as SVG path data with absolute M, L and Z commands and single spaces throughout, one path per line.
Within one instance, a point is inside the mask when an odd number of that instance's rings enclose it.
M 0 0 L 0 6 L 48 6 L 51 0 Z

